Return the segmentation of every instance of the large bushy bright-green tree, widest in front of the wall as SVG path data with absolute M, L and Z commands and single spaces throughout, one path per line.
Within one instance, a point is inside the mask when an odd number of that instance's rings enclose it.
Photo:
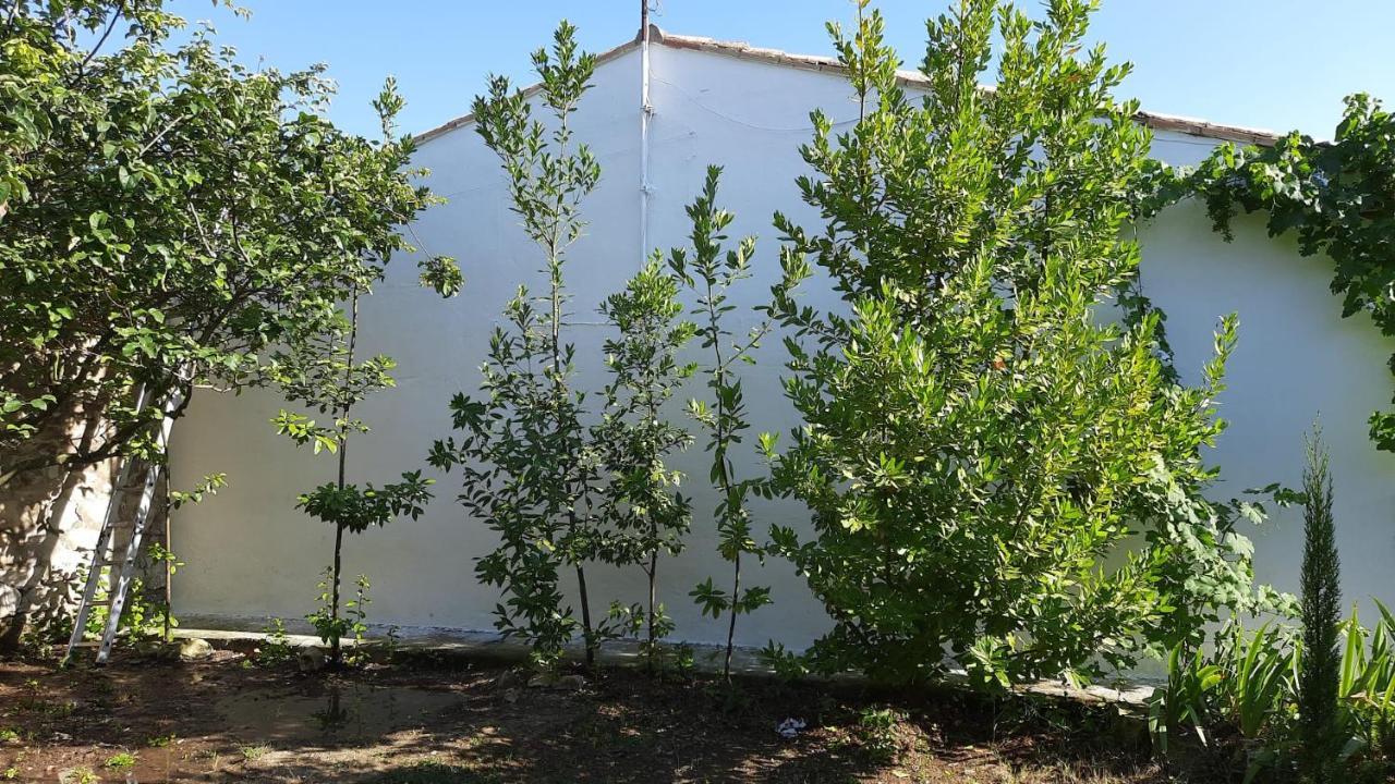
M 919 681 L 951 657 L 1009 685 L 1200 635 L 1253 601 L 1249 541 L 1201 497 L 1235 322 L 1187 388 L 1159 314 L 1099 312 L 1137 275 L 1123 237 L 1151 166 L 1112 98 L 1127 66 L 1084 47 L 1095 4 L 957 3 L 928 24 L 923 100 L 866 6 L 851 35 L 830 25 L 859 120 L 834 135 L 815 112 L 802 148 L 824 226 L 776 216 L 787 272 L 812 259 L 845 301 L 773 306 L 804 420 L 774 478 L 815 536 L 771 538 L 834 622 L 806 661 Z

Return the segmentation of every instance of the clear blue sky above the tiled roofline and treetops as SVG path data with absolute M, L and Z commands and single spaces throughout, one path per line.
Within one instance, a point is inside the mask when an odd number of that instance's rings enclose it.
M 212 20 L 219 40 L 248 63 L 283 70 L 326 63 L 339 84 L 332 117 L 375 133 L 368 100 L 386 74 L 407 98 L 402 124 L 423 131 L 469 110 L 488 73 L 533 81 L 529 53 L 559 18 L 600 52 L 639 29 L 639 0 L 239 0 L 251 20 L 208 0 L 173 0 Z M 651 6 L 653 6 L 651 0 Z M 848 21 L 850 0 L 661 0 L 653 20 L 688 35 L 829 54 L 826 20 Z M 946 0 L 882 0 L 889 38 L 908 66 L 923 50 L 923 20 Z M 1038 13 L 1032 0 L 1021 3 Z M 1218 123 L 1331 137 L 1342 96 L 1395 102 L 1395 0 L 1105 0 L 1092 38 L 1134 63 L 1120 91 L 1145 109 Z

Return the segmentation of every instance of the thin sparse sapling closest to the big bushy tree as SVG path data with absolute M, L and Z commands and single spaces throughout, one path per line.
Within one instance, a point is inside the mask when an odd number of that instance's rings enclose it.
M 700 374 L 706 378 L 710 399 L 692 399 L 688 412 L 707 432 L 707 451 L 711 452 L 709 477 L 720 498 L 716 509 L 717 547 L 721 557 L 731 562 L 730 589 L 720 587 L 707 578 L 689 596 L 702 607 L 703 614 L 713 618 L 727 614 L 727 647 L 721 670 L 723 677 L 730 681 L 737 617 L 755 612 L 770 603 L 767 586 L 742 586 L 742 555 L 764 555 L 764 548 L 752 536 L 748 509 L 749 498 L 759 490 L 760 480 L 742 478 L 732 463 L 731 451 L 751 428 L 737 368 L 753 361 L 752 352 L 770 333 L 773 321 L 767 315 L 744 336 L 735 336 L 731 331 L 730 314 L 737 306 L 728 301 L 728 292 L 751 276 L 756 240 L 745 237 L 735 248 L 724 247 L 724 232 L 734 215 L 716 205 L 720 179 L 721 167 L 709 166 L 702 194 L 688 206 L 692 248 L 674 248 L 668 261 L 674 273 L 695 293 L 696 307 L 692 315 L 698 321 L 702 347 L 709 352 Z M 792 279 L 777 283 L 777 296 L 784 296 L 790 285 Z

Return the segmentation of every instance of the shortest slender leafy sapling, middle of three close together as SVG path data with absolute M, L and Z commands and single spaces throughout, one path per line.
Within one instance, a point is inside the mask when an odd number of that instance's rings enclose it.
M 605 473 L 603 558 L 618 566 L 639 565 L 649 580 L 647 601 L 635 615 L 643 617 L 640 651 L 653 671 L 658 640 L 674 631 L 658 600 L 658 561 L 682 552 L 692 525 L 691 504 L 678 492 L 682 474 L 665 463 L 692 444 L 692 435 L 665 419 L 663 409 L 693 374 L 696 365 L 679 363 L 678 353 L 696 326 L 681 318 L 678 280 L 658 258 L 631 278 L 624 292 L 611 294 L 601 314 L 617 332 L 605 342 L 611 374 L 605 413 L 591 432 Z

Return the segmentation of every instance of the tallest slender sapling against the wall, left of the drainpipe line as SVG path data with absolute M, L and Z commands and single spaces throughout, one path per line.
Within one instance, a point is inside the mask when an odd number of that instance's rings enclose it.
M 547 293 L 534 297 L 519 287 L 505 307 L 508 326 L 490 340 L 485 399 L 455 396 L 452 424 L 463 435 L 438 441 L 430 456 L 442 470 L 462 469 L 460 504 L 499 533 L 499 547 L 476 562 L 476 575 L 508 594 L 497 607 L 497 626 L 527 639 L 541 667 L 558 661 L 578 626 L 558 586 L 564 568 L 576 573 L 587 663 L 607 635 L 591 619 L 585 566 L 601 545 L 598 466 L 583 423 L 586 395 L 573 385 L 575 346 L 566 339 L 566 251 L 582 236 L 580 204 L 600 179 L 590 148 L 572 138 L 571 119 L 596 66 L 594 56 L 578 50 L 575 32 L 564 21 L 551 52 L 533 54 L 541 100 L 555 120 L 551 130 L 506 78 L 492 77 L 488 96 L 474 100 L 476 130 L 498 153 L 513 212 L 543 251 Z

